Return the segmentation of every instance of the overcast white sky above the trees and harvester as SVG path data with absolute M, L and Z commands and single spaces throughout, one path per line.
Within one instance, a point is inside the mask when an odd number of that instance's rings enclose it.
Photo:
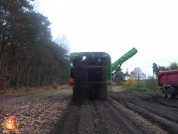
M 104 51 L 114 62 L 135 47 L 139 52 L 121 68 L 140 67 L 150 75 L 154 62 L 178 62 L 177 0 L 36 1 L 53 37 L 65 35 L 70 52 Z

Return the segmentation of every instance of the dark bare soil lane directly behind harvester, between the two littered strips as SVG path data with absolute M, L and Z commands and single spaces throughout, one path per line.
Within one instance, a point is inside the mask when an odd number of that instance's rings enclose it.
M 137 125 L 108 101 L 89 101 L 86 105 L 73 103 L 65 110 L 53 134 L 143 134 Z

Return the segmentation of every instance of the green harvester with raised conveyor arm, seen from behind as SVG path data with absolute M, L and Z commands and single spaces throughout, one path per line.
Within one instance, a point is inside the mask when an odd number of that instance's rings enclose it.
M 137 52 L 132 48 L 114 63 L 106 52 L 71 53 L 69 85 L 73 87 L 73 100 L 78 104 L 85 100 L 107 100 L 107 91 L 112 90 L 112 75 Z

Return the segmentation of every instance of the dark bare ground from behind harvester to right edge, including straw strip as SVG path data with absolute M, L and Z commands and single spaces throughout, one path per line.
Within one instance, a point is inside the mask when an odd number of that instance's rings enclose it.
M 70 103 L 51 133 L 176 134 L 177 101 L 157 93 L 109 93 L 108 101 Z

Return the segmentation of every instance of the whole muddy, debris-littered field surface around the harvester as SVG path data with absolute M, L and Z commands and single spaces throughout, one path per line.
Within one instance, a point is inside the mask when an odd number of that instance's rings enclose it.
M 108 101 L 87 101 L 81 106 L 71 99 L 71 90 L 1 99 L 0 123 L 3 117 L 16 115 L 22 134 L 178 133 L 178 99 L 126 92 L 109 92 Z

